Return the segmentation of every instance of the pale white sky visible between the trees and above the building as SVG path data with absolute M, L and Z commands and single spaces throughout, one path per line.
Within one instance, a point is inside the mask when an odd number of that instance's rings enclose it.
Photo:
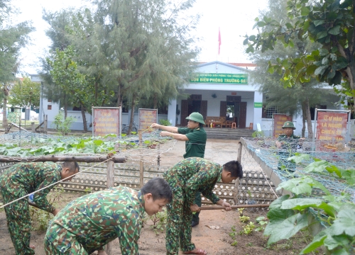
M 180 0 L 175 0 L 180 1 Z M 198 47 L 201 48 L 198 61 L 211 62 L 250 62 L 244 53 L 243 36 L 255 34 L 252 30 L 254 18 L 259 10 L 267 7 L 268 0 L 196 0 L 190 10 L 200 13 L 200 23 L 196 35 L 200 38 Z M 22 71 L 26 74 L 38 73 L 38 56 L 48 52 L 50 40 L 45 35 L 48 24 L 42 19 L 42 10 L 59 11 L 68 6 L 79 7 L 87 4 L 82 0 L 13 0 L 20 11 L 18 21 L 33 21 L 36 31 L 31 33 L 32 45 L 21 51 L 23 62 Z M 218 31 L 221 33 L 222 45 L 218 54 Z

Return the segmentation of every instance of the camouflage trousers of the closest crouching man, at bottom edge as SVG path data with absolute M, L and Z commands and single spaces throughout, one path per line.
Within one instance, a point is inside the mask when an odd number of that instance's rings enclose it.
M 109 242 L 111 239 L 107 241 Z M 47 233 L 45 234 L 44 248 L 45 254 L 47 255 L 88 255 L 102 249 L 102 246 L 84 246 L 77 240 L 75 234 L 72 234 L 60 225 L 53 225 L 53 222 L 50 222 Z

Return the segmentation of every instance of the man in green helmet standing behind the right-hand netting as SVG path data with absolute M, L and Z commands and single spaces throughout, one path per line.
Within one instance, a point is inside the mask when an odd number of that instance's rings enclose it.
M 293 130 L 296 128 L 292 121 L 286 121 L 282 128 L 285 130 L 285 134 L 280 134 L 276 141 L 276 146 L 280 149 L 280 152 L 278 152 L 278 170 L 294 172 L 296 170 L 296 164 L 288 161 L 288 158 L 293 157 L 296 149 L 300 148 L 298 143 L 300 137 L 293 135 Z

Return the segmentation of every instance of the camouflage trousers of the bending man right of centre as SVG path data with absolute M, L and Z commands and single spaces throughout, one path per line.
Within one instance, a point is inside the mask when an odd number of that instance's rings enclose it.
M 195 244 L 191 242 L 192 211 L 190 205 L 186 203 L 182 187 L 177 183 L 168 182 L 173 190 L 173 200 L 167 205 L 166 254 L 179 254 L 179 246 L 181 251 L 192 251 L 195 249 Z

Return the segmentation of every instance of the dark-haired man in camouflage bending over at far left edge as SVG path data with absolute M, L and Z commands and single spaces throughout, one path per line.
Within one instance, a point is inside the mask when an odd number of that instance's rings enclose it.
M 62 165 L 53 162 L 15 164 L 6 169 L 0 176 L 0 191 L 4 198 L 4 204 L 70 177 L 78 171 L 77 162 L 65 162 Z M 50 188 L 53 188 L 53 186 Z M 59 210 L 50 205 L 46 198 L 50 188 L 45 188 L 35 193 L 33 202 L 38 208 L 56 215 Z M 7 205 L 5 212 L 7 226 L 16 254 L 35 254 L 34 246 L 30 246 L 31 217 L 28 199 L 23 198 Z

